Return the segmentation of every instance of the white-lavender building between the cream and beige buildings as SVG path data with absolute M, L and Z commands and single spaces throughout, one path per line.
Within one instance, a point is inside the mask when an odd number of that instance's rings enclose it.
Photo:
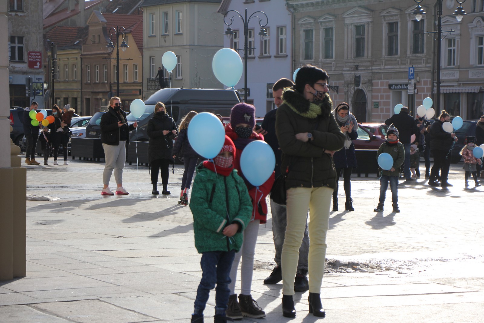
M 267 15 L 267 20 L 263 14 L 257 13 L 249 20 L 247 29 L 248 50 L 244 53 L 244 26 L 242 19 L 234 18 L 230 28 L 235 32 L 230 38 L 224 37 L 224 47 L 233 48 L 238 51 L 244 60 L 247 55 L 247 101 L 256 107 L 256 115 L 264 116 L 268 111 L 275 108 L 272 98 L 272 85 L 282 77 L 292 79 L 292 29 L 291 12 L 279 0 L 255 0 L 255 1 L 231 1 L 223 0 L 219 13 L 225 15 L 229 10 L 238 11 L 245 19 L 245 9 L 247 17 L 257 11 L 262 11 Z M 225 18 L 226 23 L 230 23 L 230 17 L 235 13 L 229 12 Z M 262 25 L 266 30 L 266 36 L 259 36 L 260 25 L 258 18 L 261 18 Z M 227 26 L 224 26 L 227 27 Z M 244 75 L 235 86 L 239 94 L 243 97 Z

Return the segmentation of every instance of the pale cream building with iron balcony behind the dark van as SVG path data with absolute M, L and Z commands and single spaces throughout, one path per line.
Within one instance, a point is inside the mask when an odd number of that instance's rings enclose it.
M 144 0 L 144 98 L 159 90 L 155 78 L 167 51 L 177 56 L 172 73 L 164 68 L 166 86 L 220 89 L 212 71 L 213 55 L 223 47 L 221 0 Z

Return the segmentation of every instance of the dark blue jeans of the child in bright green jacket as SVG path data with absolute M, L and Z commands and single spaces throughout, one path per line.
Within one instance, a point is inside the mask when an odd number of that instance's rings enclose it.
M 228 296 L 230 296 L 230 269 L 234 261 L 235 251 L 202 252 L 200 267 L 202 279 L 197 289 L 194 314 L 203 315 L 205 305 L 209 299 L 210 290 L 215 287 L 215 314 L 225 316 Z

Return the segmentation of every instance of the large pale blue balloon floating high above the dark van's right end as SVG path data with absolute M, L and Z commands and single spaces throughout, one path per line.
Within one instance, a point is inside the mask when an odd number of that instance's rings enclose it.
M 232 48 L 222 48 L 213 56 L 212 70 L 220 83 L 233 88 L 242 77 L 242 59 Z

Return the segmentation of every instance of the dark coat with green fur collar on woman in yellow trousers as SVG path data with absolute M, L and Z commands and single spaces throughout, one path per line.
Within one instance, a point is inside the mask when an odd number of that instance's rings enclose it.
M 345 135 L 334 120 L 333 102 L 326 93 L 321 102 L 311 103 L 293 90 L 283 93 L 284 103 L 277 108 L 276 134 L 282 150 L 281 172 L 286 173 L 286 187 L 336 187 L 336 170 L 333 157 L 324 149 L 337 151 L 343 148 Z M 309 114 L 314 106 L 321 114 Z M 303 115 L 311 115 L 305 117 Z M 303 142 L 296 134 L 309 132 L 313 140 Z

